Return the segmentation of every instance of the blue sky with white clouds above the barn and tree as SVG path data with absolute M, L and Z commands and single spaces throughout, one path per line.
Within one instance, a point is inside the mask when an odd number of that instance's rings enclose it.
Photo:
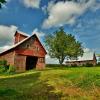
M 0 9 L 0 51 L 13 43 L 16 30 L 45 34 L 63 26 L 85 48 L 100 53 L 100 0 L 7 0 Z

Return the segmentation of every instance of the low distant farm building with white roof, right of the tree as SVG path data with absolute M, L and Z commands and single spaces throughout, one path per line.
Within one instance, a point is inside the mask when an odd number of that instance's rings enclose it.
M 78 60 L 67 60 L 65 63 L 68 66 L 72 65 L 82 66 L 86 64 L 92 64 L 95 66 L 97 64 L 97 59 L 95 53 L 85 52 L 82 57 L 78 58 Z

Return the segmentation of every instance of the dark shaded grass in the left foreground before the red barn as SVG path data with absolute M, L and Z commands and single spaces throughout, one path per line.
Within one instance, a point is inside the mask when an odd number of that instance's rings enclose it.
M 61 93 L 47 81 L 39 79 L 41 72 L 0 79 L 0 100 L 60 100 Z

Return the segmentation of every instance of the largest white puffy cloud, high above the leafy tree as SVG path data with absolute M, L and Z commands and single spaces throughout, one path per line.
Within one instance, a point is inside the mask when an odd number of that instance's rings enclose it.
M 84 0 L 83 0 L 84 1 Z M 47 7 L 48 18 L 43 22 L 43 28 L 62 26 L 65 24 L 73 25 L 76 19 L 84 14 L 88 9 L 99 9 L 96 0 L 88 0 L 87 2 L 50 2 Z

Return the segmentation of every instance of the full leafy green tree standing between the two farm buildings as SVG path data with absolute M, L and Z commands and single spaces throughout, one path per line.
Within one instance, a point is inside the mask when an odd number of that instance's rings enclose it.
M 66 34 L 61 27 L 54 34 L 45 37 L 45 44 L 51 58 L 57 58 L 62 65 L 65 58 L 77 59 L 83 55 L 83 48 L 79 41 L 71 34 Z

